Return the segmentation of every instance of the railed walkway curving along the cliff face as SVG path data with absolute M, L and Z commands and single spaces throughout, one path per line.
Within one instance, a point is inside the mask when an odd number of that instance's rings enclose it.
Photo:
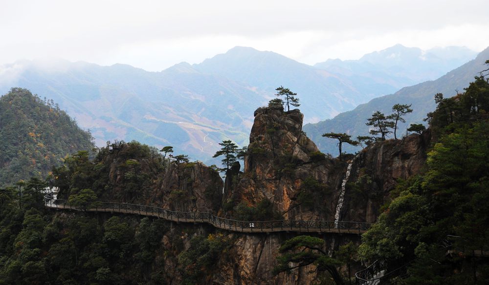
M 57 199 L 58 192 L 50 192 L 44 196 L 45 206 L 51 209 L 68 209 L 86 212 L 111 212 L 135 214 L 149 217 L 156 217 L 177 223 L 206 223 L 217 228 L 247 233 L 260 232 L 314 232 L 314 233 L 341 233 L 341 234 L 362 234 L 366 232 L 371 224 L 363 222 L 345 221 L 266 221 L 266 222 L 245 222 L 216 217 L 204 212 L 178 212 L 163 209 L 155 206 L 115 203 L 115 202 L 96 202 L 91 203 L 90 208 L 76 207 L 68 204 L 68 200 Z

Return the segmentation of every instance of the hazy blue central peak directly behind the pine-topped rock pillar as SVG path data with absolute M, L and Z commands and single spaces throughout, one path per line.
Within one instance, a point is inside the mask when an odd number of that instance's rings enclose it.
M 298 94 L 307 122 L 331 118 L 393 90 L 387 84 L 371 82 L 364 76 L 352 78 L 327 72 L 274 52 L 250 47 L 234 47 L 193 67 L 202 73 L 244 82 L 270 99 L 275 88 L 284 85 Z

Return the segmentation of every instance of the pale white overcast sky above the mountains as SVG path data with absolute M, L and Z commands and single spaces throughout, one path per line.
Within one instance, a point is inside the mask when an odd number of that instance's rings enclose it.
M 488 0 L 1 0 L 0 64 L 59 57 L 159 71 L 240 45 L 313 64 L 401 43 L 489 46 Z

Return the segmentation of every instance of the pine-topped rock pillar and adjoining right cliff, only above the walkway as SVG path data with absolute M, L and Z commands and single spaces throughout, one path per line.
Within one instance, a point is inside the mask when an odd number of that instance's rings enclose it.
M 266 198 L 285 219 L 331 221 L 352 164 L 339 219 L 374 222 L 397 181 L 418 173 L 426 159 L 429 131 L 375 143 L 342 162 L 319 152 L 302 119 L 297 109 L 255 111 L 244 173 L 226 184 L 224 200 L 256 205 Z

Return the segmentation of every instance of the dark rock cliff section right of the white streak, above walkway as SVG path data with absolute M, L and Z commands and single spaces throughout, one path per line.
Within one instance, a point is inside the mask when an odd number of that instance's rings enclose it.
M 374 143 L 361 151 L 350 161 L 342 220 L 374 223 L 396 185 L 420 173 L 430 143 L 428 129 L 422 135 Z

